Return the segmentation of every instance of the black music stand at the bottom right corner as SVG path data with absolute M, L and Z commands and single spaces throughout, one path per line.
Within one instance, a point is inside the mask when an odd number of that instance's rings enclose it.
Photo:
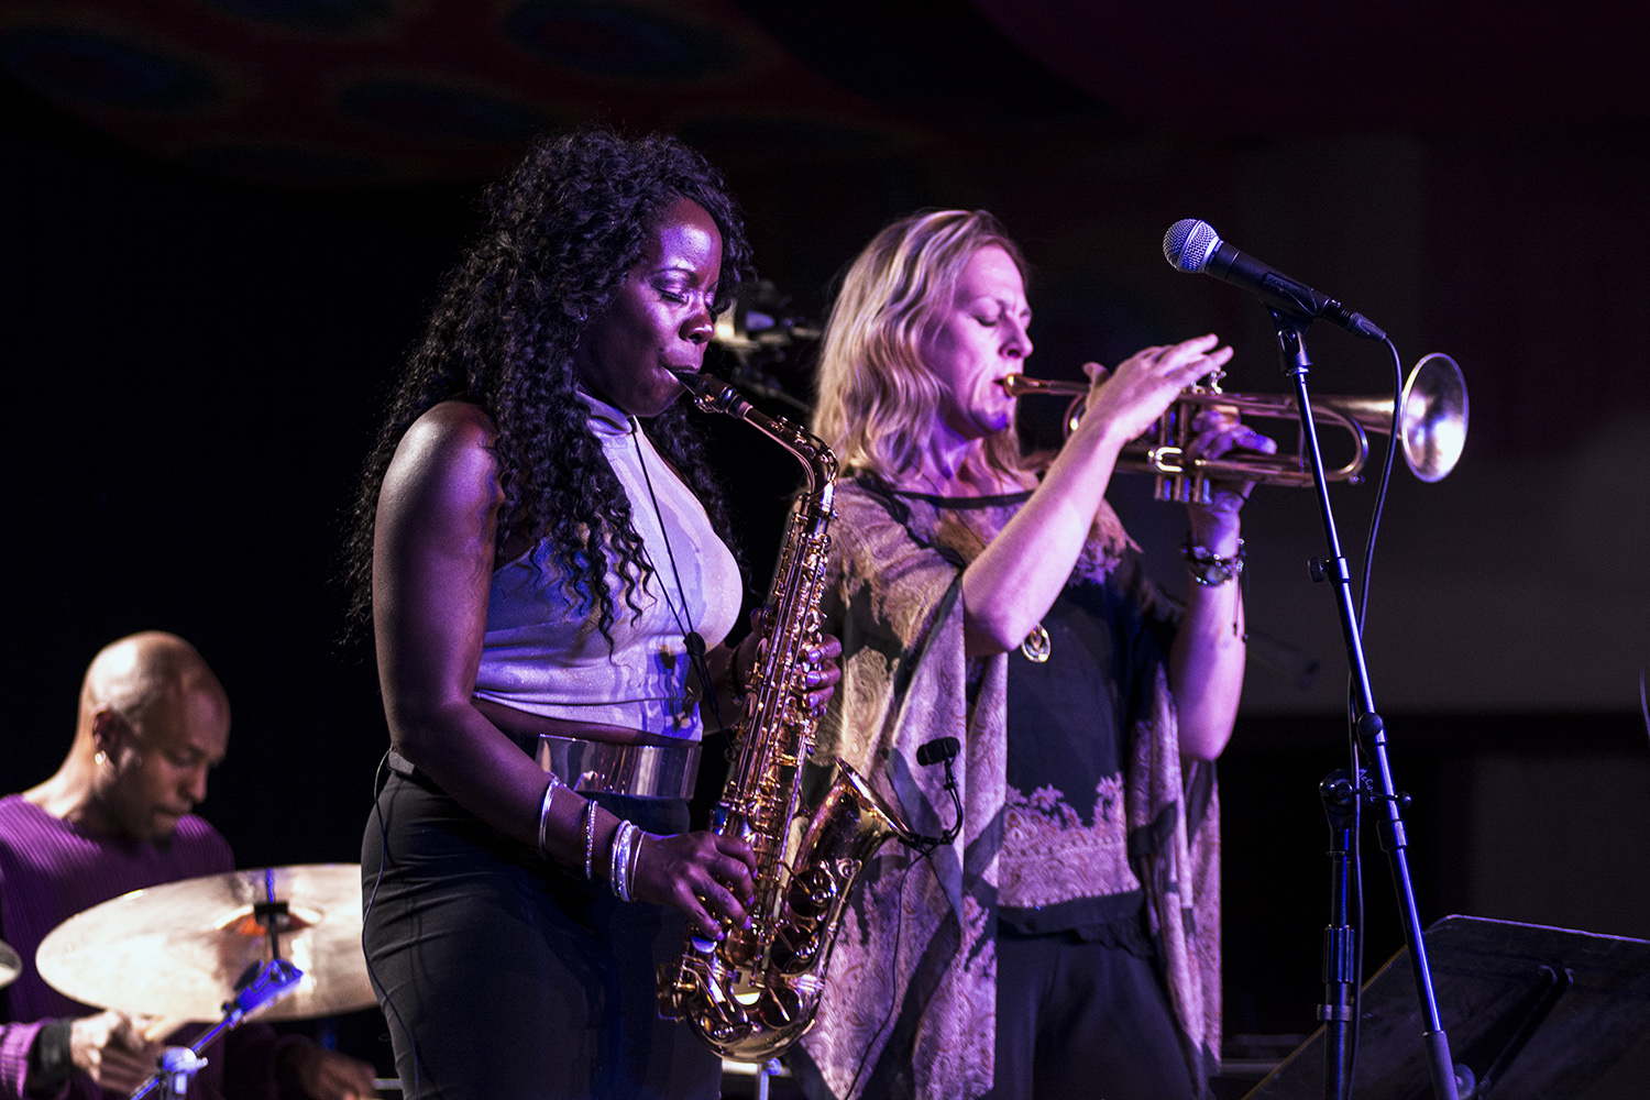
M 1581 1097 L 1650 1034 L 1650 942 L 1483 917 L 1444 917 L 1426 932 L 1439 1014 L 1454 1062 L 1485 1100 Z M 1432 1095 L 1416 1046 L 1409 948 L 1363 988 L 1353 1097 Z M 1464 1082 L 1465 1084 L 1465 1082 Z M 1323 1029 L 1244 1100 L 1320 1100 Z

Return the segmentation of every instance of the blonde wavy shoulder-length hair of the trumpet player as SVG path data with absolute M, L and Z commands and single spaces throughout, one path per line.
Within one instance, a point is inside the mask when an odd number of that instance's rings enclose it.
M 1020 246 L 983 209 L 901 218 L 848 267 L 825 323 L 813 406 L 813 434 L 837 452 L 843 473 L 894 482 L 917 465 L 921 439 L 940 406 L 922 341 L 950 307 L 962 269 L 992 244 L 1025 279 Z M 985 460 L 1003 473 L 1020 468 L 1013 427 L 985 442 Z

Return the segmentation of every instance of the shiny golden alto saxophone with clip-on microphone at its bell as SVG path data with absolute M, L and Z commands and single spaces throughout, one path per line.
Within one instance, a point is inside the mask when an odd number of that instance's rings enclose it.
M 756 851 L 751 928 L 724 924 L 721 942 L 690 933 L 681 960 L 658 968 L 665 1019 L 686 1019 L 726 1059 L 762 1062 L 813 1026 L 825 963 L 860 867 L 888 838 L 909 843 L 912 833 L 846 764 L 837 764 L 818 805 L 802 805 L 802 764 L 817 726 L 804 698 L 804 655 L 820 642 L 837 457 L 795 424 L 757 412 L 716 378 L 680 379 L 700 409 L 751 424 L 807 470 L 767 597 L 767 651 L 751 676 L 728 785 L 711 813 L 716 833 L 739 836 Z

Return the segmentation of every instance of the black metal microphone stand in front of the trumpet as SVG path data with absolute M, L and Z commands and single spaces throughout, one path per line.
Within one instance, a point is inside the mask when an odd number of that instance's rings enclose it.
M 1294 376 L 1295 379 L 1295 402 L 1300 411 L 1300 437 L 1305 442 L 1305 457 L 1312 467 L 1312 482 L 1318 495 L 1318 511 L 1323 516 L 1323 536 L 1328 541 L 1330 556 L 1312 562 L 1313 581 L 1322 581 L 1325 576 L 1335 581 L 1335 597 L 1340 609 L 1341 635 L 1346 640 L 1346 660 L 1351 665 L 1351 717 L 1353 729 L 1356 732 L 1356 742 L 1351 752 L 1351 785 L 1353 797 L 1361 795 L 1361 783 L 1358 782 L 1358 744 L 1366 745 L 1370 759 L 1374 764 L 1374 780 L 1376 793 L 1371 795 L 1374 801 L 1386 806 L 1386 816 L 1381 820 L 1379 834 L 1381 848 L 1388 854 L 1388 861 L 1393 866 L 1393 887 L 1398 892 L 1398 909 L 1404 922 L 1404 942 L 1409 945 L 1409 961 L 1414 971 L 1416 996 L 1421 1001 L 1421 1016 L 1426 1031 L 1421 1034 L 1421 1044 L 1427 1060 L 1427 1069 L 1432 1075 L 1432 1097 L 1434 1100 L 1459 1100 L 1455 1090 L 1455 1069 L 1450 1062 L 1449 1052 L 1449 1036 L 1444 1034 L 1444 1024 L 1439 1018 L 1437 998 L 1432 993 L 1432 971 L 1427 966 L 1427 945 L 1421 933 L 1421 917 L 1416 912 L 1416 896 L 1409 877 L 1409 859 L 1407 859 L 1407 839 L 1404 836 L 1404 820 L 1402 806 L 1399 803 L 1398 790 L 1393 787 L 1393 772 L 1386 760 L 1386 729 L 1381 724 L 1381 716 L 1374 709 L 1374 693 L 1370 689 L 1370 668 L 1363 660 L 1363 638 L 1358 628 L 1358 612 L 1351 602 L 1351 574 L 1346 569 L 1346 557 L 1341 554 L 1340 536 L 1335 533 L 1335 511 L 1330 506 L 1328 482 L 1323 477 L 1323 455 L 1318 450 L 1318 432 L 1317 424 L 1312 419 L 1312 401 L 1307 393 L 1307 373 L 1312 369 L 1312 361 L 1307 358 L 1307 345 L 1304 331 L 1307 325 L 1312 323 L 1310 317 L 1300 317 L 1295 313 L 1287 313 L 1282 310 L 1272 310 L 1272 322 L 1277 327 L 1277 346 L 1284 361 L 1284 373 Z M 1336 858 L 1336 869 L 1341 876 L 1346 872 L 1346 861 Z M 1335 894 L 1345 897 L 1343 887 L 1336 887 Z M 1346 1003 L 1343 981 L 1343 960 L 1345 947 L 1338 943 L 1340 937 L 1335 935 L 1338 915 L 1330 917 L 1330 933 L 1325 935 L 1325 960 L 1323 960 L 1323 976 L 1328 986 L 1328 1004 L 1318 1006 L 1318 1018 L 1323 1021 L 1325 1027 L 1325 1064 L 1323 1064 L 1323 1084 L 1327 1100 L 1341 1100 L 1341 1084 L 1345 1080 L 1345 1039 L 1346 1024 L 1355 1022 L 1351 1019 L 1351 1006 Z M 1332 958 L 1332 955 L 1338 958 Z M 1361 975 L 1355 976 L 1355 981 L 1361 980 Z M 1345 1080 L 1350 1087 L 1350 1080 Z M 1333 1090 L 1333 1092 L 1332 1092 Z

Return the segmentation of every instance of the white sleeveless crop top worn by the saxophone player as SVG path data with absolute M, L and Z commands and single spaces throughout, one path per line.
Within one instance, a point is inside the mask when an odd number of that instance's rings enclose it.
M 635 594 L 642 612 L 630 610 L 622 582 L 609 569 L 614 599 L 609 651 L 597 628 L 596 602 L 579 607 L 579 597 L 566 587 L 566 574 L 540 543 L 493 571 L 475 698 L 548 717 L 698 740 L 703 722 L 688 694 L 693 671 L 683 638 L 698 630 L 710 648 L 728 637 L 742 595 L 739 566 L 711 528 L 705 506 L 653 450 L 640 425 L 609 404 L 579 396 L 591 406 L 591 430 L 630 498 L 630 523 L 653 566 L 653 576 Z

